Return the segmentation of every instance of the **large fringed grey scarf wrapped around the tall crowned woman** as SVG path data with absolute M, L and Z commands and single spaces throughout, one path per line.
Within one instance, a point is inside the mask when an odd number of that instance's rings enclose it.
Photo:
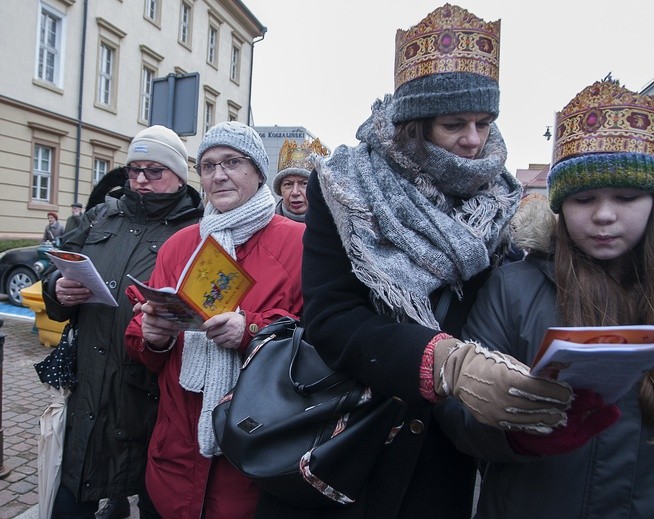
M 506 170 L 506 147 L 493 124 L 477 159 L 427 143 L 428 156 L 393 145 L 388 107 L 373 105 L 357 132 L 361 143 L 339 146 L 314 165 L 357 278 L 375 307 L 397 320 L 440 329 L 429 295 L 490 266 L 508 238 L 521 196 Z

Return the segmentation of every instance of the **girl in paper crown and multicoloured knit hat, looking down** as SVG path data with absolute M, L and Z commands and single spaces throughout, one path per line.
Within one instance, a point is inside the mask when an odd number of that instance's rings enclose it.
M 531 252 L 492 274 L 463 330 L 527 364 L 550 326 L 654 324 L 654 98 L 596 82 L 557 114 L 555 128 L 553 236 L 539 234 L 539 219 L 516 228 Z M 654 517 L 653 375 L 643 373 L 617 406 L 573 408 L 567 426 L 545 437 L 502 434 L 465 410 L 442 410 L 457 445 L 489 461 L 477 517 Z

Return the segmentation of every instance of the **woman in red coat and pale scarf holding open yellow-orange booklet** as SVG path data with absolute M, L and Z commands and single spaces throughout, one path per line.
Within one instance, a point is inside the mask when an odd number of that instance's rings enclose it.
M 159 415 L 149 446 L 146 484 L 165 518 L 250 518 L 258 489 L 220 456 L 211 412 L 233 386 L 241 353 L 258 330 L 302 311 L 304 226 L 274 215 L 266 186 L 268 157 L 259 135 L 238 122 L 214 126 L 196 169 L 208 204 L 199 225 L 161 248 L 153 287 L 176 286 L 200 240 L 212 234 L 254 278 L 240 308 L 180 332 L 146 302 L 126 332 L 129 354 L 159 374 Z

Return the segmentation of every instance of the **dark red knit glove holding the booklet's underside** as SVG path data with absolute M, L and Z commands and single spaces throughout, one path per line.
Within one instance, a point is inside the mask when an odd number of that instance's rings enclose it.
M 594 391 L 579 389 L 575 391 L 567 415 L 567 425 L 556 427 L 545 436 L 522 431 L 507 432 L 509 445 L 516 453 L 530 456 L 565 454 L 578 449 L 617 422 L 620 409 L 615 404 L 604 405 L 602 397 Z

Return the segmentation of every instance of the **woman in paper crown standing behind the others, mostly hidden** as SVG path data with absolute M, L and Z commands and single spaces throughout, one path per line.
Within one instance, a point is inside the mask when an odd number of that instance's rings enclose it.
M 282 198 L 275 206 L 275 213 L 296 222 L 304 222 L 307 203 L 307 183 L 313 165 L 309 161 L 312 153 L 326 156 L 329 152 L 320 139 L 297 142 L 286 139 L 279 151 L 277 175 L 273 180 L 275 194 Z

